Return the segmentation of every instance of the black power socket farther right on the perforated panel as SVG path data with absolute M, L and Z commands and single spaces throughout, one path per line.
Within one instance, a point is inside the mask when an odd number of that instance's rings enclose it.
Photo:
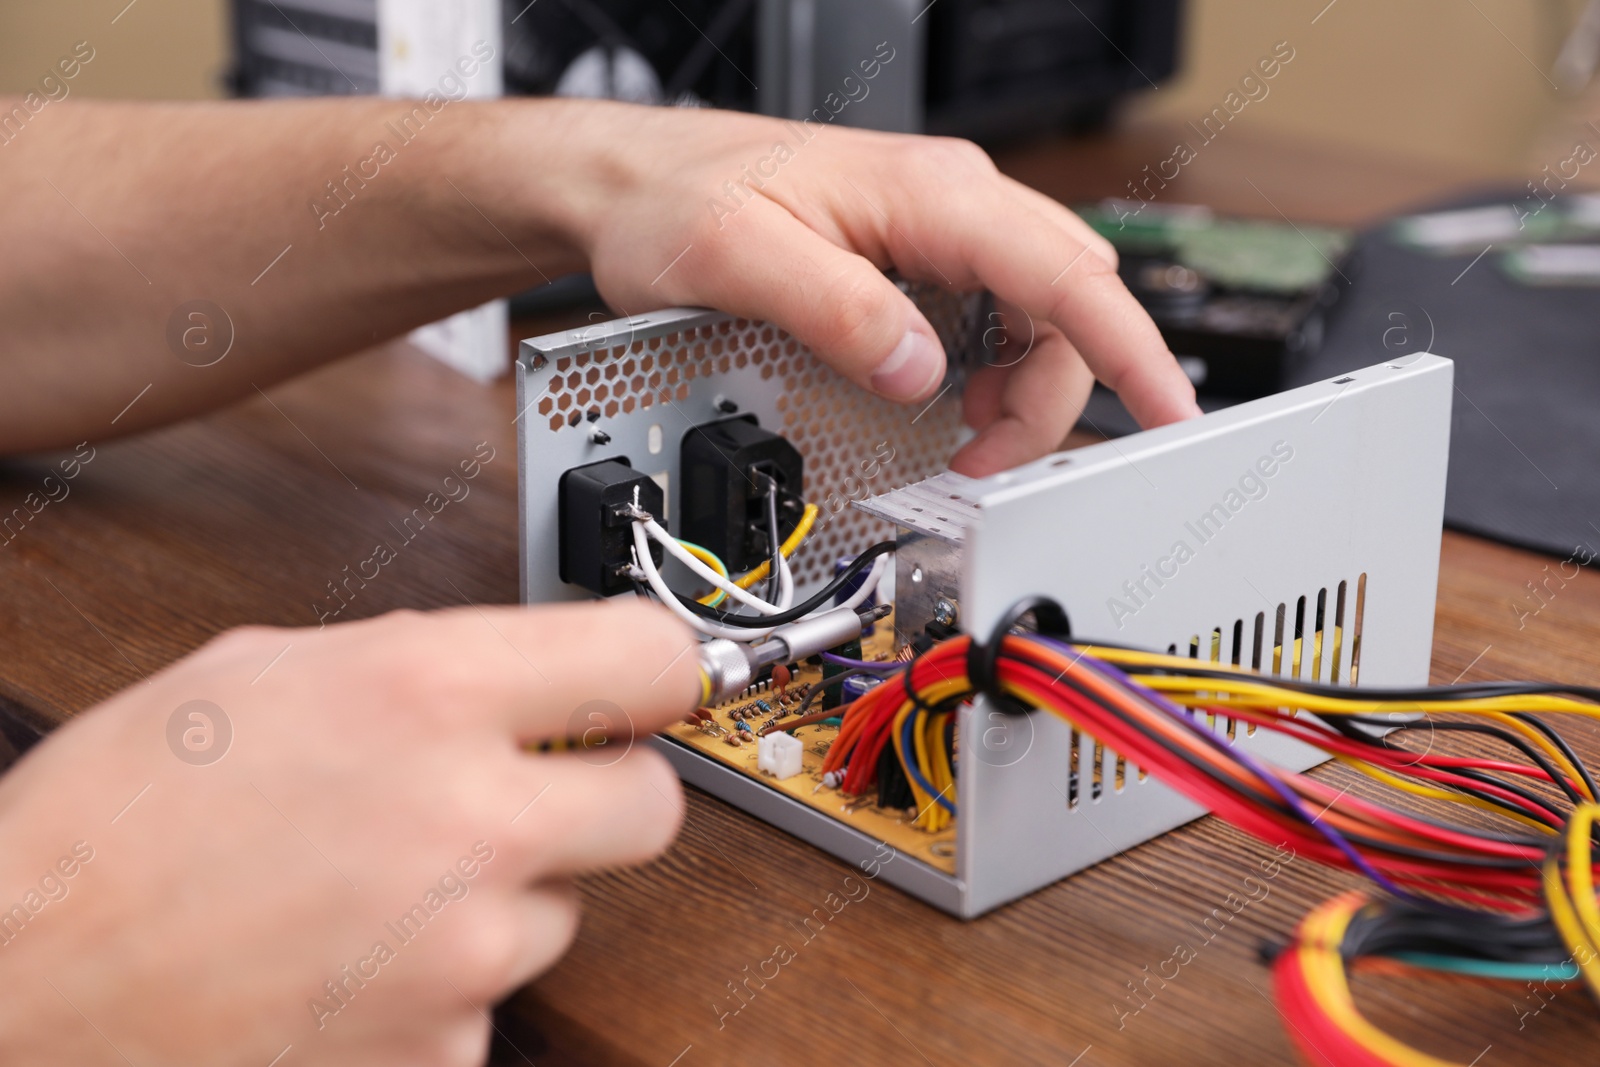
M 733 571 L 770 558 L 768 488 L 776 483 L 778 541 L 800 523 L 805 462 L 754 414 L 691 427 L 678 446 L 678 531 Z

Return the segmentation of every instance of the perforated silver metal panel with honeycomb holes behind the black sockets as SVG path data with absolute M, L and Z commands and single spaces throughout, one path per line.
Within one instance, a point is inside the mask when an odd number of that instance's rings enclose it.
M 670 525 L 678 442 L 691 426 L 725 418 L 717 406 L 723 400 L 805 456 L 805 496 L 822 514 L 797 560 L 802 587 L 829 577 L 838 557 L 893 537 L 891 525 L 850 504 L 944 469 L 962 435 L 958 381 L 984 357 L 981 296 L 902 288 L 950 357 L 954 387 L 922 411 L 858 389 L 770 323 L 720 312 L 651 312 L 523 341 L 523 598 L 586 595 L 555 576 L 555 485 L 563 470 L 627 456 L 635 469 L 666 475 Z M 597 432 L 610 440 L 595 443 Z

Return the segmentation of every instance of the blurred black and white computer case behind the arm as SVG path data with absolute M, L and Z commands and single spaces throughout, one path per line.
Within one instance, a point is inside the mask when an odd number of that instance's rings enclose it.
M 610 98 L 994 142 L 1101 125 L 1173 72 L 1179 16 L 1181 0 L 234 0 L 230 82 Z M 493 378 L 506 322 L 496 301 L 413 339 Z

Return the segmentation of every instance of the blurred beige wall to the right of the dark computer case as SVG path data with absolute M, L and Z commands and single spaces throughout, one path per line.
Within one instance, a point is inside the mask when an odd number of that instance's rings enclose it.
M 1190 0 L 1182 74 L 1133 115 L 1198 120 L 1286 40 L 1294 59 L 1240 128 L 1520 165 L 1571 107 L 1544 75 L 1582 2 Z

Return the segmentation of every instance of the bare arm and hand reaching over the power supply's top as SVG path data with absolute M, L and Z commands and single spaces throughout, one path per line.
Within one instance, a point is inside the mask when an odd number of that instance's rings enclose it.
M 1054 448 L 1091 371 L 1147 426 L 1197 411 L 1109 246 L 946 139 L 566 101 L 74 101 L 0 147 L 0 248 L 3 453 L 170 422 L 584 267 L 627 312 L 771 318 L 906 402 L 942 352 L 878 270 L 992 288 L 1037 339 L 968 390 L 970 474 Z

